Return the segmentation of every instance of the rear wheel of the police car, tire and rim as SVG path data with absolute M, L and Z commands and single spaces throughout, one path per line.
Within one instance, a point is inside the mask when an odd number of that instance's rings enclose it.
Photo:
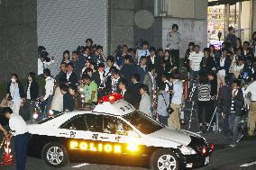
M 48 166 L 61 167 L 69 162 L 67 149 L 59 143 L 50 143 L 42 150 L 42 158 Z

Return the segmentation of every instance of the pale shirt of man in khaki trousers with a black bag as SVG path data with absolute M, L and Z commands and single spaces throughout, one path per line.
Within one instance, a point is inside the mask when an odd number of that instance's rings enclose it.
M 171 98 L 171 103 L 181 104 L 183 93 L 183 86 L 182 83 L 178 80 L 173 82 L 173 95 Z

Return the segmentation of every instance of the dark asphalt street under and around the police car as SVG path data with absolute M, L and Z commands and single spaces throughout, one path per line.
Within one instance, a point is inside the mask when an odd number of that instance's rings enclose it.
M 208 166 L 197 170 L 255 170 L 256 169 L 256 139 L 243 138 L 235 148 L 228 146 L 228 140 L 219 134 L 205 134 L 206 139 L 215 143 L 216 149 Z M 1 153 L 2 155 L 2 153 Z M 1 156 L 2 157 L 2 156 Z M 14 166 L 0 166 L 1 170 L 14 170 Z M 46 166 L 41 159 L 27 157 L 26 170 L 54 170 Z M 86 163 L 72 163 L 58 169 L 81 170 L 146 170 L 138 167 L 90 165 Z

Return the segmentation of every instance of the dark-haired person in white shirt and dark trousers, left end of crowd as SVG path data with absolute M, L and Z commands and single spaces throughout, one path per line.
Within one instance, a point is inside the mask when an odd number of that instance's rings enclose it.
M 43 70 L 43 77 L 45 79 L 45 94 L 41 97 L 42 113 L 47 113 L 50 111 L 50 105 L 54 94 L 54 82 L 55 80 L 50 76 L 50 69 L 45 68 Z M 42 119 L 41 115 L 41 119 Z

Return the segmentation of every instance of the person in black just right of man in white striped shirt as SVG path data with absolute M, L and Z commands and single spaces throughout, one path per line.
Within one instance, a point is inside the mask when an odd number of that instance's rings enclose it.
M 215 58 L 210 56 L 210 52 L 211 51 L 209 48 L 204 49 L 204 57 L 202 58 L 200 63 L 200 72 L 202 74 L 213 71 L 213 68 L 215 67 Z

